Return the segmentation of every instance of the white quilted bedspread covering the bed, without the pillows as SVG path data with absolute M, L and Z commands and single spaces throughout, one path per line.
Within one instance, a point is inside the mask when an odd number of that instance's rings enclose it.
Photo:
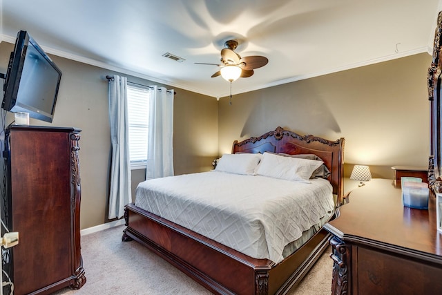
M 219 171 L 146 180 L 135 205 L 253 258 L 279 263 L 285 245 L 334 209 L 332 185 Z

